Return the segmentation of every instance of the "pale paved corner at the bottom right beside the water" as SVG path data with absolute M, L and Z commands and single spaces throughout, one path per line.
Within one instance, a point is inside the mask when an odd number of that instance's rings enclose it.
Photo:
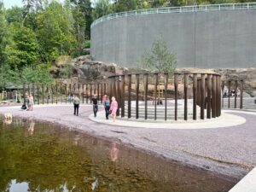
M 229 192 L 256 192 L 256 167 L 236 183 Z

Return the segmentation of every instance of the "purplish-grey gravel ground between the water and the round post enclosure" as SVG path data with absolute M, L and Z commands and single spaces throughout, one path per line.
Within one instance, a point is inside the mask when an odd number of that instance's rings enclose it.
M 82 105 L 79 111 L 79 116 L 73 115 L 72 105 L 36 106 L 33 111 L 0 108 L 0 113 L 67 125 L 97 137 L 115 137 L 131 147 L 231 179 L 241 179 L 256 166 L 256 113 L 228 111 L 247 119 L 242 125 L 171 130 L 99 124 L 88 118 L 92 113 L 91 106 Z

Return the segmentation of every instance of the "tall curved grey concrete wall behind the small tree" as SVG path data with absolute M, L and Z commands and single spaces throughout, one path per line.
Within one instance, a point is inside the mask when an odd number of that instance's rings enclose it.
M 177 54 L 177 67 L 256 67 L 256 9 L 242 5 L 245 9 L 205 6 L 185 13 L 105 16 L 91 26 L 90 53 L 96 61 L 137 67 L 140 55 L 162 36 Z

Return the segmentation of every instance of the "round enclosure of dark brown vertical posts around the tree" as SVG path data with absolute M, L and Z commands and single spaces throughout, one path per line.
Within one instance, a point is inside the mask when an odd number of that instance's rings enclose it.
M 160 81 L 162 81 L 161 88 Z M 161 102 L 164 119 L 170 120 L 168 113 L 173 113 L 173 119 L 177 120 L 179 100 L 183 102 L 183 119 L 188 120 L 189 99 L 192 100 L 194 120 L 198 118 L 197 108 L 200 108 L 200 119 L 211 119 L 221 115 L 219 74 L 175 73 L 173 77 L 170 77 L 168 73 L 163 75 L 160 73 L 114 75 L 109 77 L 108 84 L 108 95 L 115 96 L 119 103 L 120 112 L 118 110 L 117 115 L 128 119 L 132 117 L 131 102 L 135 110 L 133 118 L 148 119 L 148 109 L 151 108 L 154 110 L 154 120 L 159 118 Z M 160 90 L 162 90 L 161 98 Z M 180 90 L 183 90 L 182 94 L 178 94 Z M 148 107 L 150 101 L 152 104 Z M 173 108 L 168 106 L 170 101 L 173 103 Z

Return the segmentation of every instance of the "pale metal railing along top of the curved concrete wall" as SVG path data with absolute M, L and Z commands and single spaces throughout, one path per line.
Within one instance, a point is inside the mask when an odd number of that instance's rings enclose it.
M 151 15 L 151 14 L 172 14 L 172 13 L 188 13 L 188 12 L 207 12 L 220 10 L 240 10 L 240 9 L 256 9 L 256 3 L 223 3 L 223 4 L 207 4 L 193 5 L 183 7 L 165 7 L 156 9 L 139 9 L 128 12 L 120 12 L 111 15 L 104 15 L 95 20 L 90 27 L 96 26 L 105 20 L 113 20 L 121 17 L 129 17 L 136 15 Z

